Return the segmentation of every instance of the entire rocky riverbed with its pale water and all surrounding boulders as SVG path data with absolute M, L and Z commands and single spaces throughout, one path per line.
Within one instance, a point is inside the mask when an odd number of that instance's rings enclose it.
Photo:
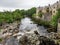
M 23 24 L 24 23 L 24 24 Z M 46 29 L 24 18 L 21 22 L 5 24 L 1 27 L 2 45 L 60 45 L 60 33 L 47 33 Z

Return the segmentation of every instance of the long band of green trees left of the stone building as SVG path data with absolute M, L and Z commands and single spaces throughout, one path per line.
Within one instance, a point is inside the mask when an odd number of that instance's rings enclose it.
M 15 11 L 0 12 L 0 25 L 4 23 L 12 23 L 14 21 L 20 21 L 25 16 L 31 17 L 34 13 L 36 13 L 35 7 L 28 10 L 16 9 Z

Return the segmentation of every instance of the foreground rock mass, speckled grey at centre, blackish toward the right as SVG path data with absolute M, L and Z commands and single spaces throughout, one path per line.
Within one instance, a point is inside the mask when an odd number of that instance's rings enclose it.
M 23 35 L 19 43 L 20 45 L 56 45 L 53 40 L 36 33 Z

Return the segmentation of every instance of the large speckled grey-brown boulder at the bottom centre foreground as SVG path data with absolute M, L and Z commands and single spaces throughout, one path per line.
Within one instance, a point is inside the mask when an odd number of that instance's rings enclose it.
M 39 45 L 39 37 L 36 34 L 25 34 L 20 38 L 21 45 Z

